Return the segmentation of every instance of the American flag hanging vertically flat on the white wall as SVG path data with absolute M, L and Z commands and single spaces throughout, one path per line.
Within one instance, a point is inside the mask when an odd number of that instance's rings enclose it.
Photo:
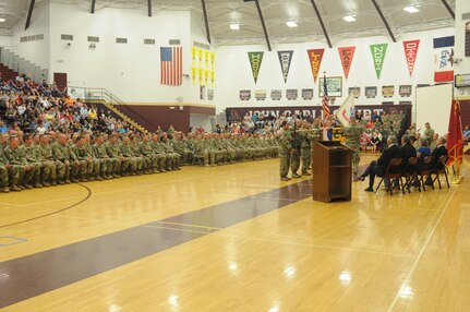
M 161 84 L 181 85 L 183 77 L 183 48 L 160 47 Z

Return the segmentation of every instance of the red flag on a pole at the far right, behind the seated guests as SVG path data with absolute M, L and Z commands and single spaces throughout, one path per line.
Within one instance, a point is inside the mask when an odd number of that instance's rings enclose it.
M 447 151 L 449 159 L 447 165 L 459 166 L 463 159 L 462 122 L 460 118 L 460 103 L 453 100 L 450 109 L 449 129 L 447 133 Z

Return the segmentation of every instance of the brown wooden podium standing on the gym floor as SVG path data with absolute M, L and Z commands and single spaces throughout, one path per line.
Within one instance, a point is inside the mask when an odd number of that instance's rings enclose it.
M 351 200 L 352 151 L 339 142 L 316 141 L 313 147 L 313 200 Z

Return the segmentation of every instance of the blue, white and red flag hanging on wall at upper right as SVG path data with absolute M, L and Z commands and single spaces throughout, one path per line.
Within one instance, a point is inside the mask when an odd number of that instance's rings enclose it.
M 434 82 L 454 81 L 455 37 L 434 39 Z

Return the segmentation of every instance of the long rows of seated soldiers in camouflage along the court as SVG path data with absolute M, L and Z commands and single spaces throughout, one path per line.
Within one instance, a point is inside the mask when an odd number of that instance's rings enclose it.
M 205 166 L 276 157 L 270 136 L 180 132 L 21 134 L 0 136 L 0 188 L 21 191 L 71 182 L 180 170 L 194 157 Z

